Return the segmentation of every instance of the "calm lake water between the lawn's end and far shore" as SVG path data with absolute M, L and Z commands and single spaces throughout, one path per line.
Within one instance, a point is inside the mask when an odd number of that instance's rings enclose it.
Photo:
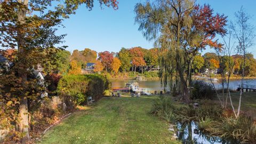
M 131 80 L 131 79 L 111 81 L 112 89 L 123 88 L 125 86 L 125 83 L 128 83 L 128 82 L 138 82 L 140 87 L 150 89 L 151 91 L 155 91 L 155 90 L 156 91 L 162 91 L 162 90 L 164 90 L 164 87 L 161 86 L 161 81 L 160 80 L 136 81 L 136 80 Z M 205 80 L 205 82 L 211 84 L 211 81 Z M 217 89 L 221 88 L 220 81 L 213 81 L 213 84 L 215 85 L 215 87 Z M 229 87 L 230 87 L 230 89 L 236 90 L 238 84 L 241 84 L 240 79 L 231 80 L 229 82 Z M 244 84 L 256 85 L 256 79 L 245 79 Z

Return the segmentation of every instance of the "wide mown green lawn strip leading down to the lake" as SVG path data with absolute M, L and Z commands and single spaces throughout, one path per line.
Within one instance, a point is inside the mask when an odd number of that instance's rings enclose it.
M 102 98 L 48 131 L 38 143 L 180 143 L 149 114 L 154 96 Z

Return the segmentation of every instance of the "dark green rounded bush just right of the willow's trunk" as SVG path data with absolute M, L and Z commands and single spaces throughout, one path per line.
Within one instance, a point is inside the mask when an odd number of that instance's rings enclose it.
M 214 88 L 212 85 L 203 81 L 194 81 L 194 89 L 191 91 L 191 99 L 213 99 Z

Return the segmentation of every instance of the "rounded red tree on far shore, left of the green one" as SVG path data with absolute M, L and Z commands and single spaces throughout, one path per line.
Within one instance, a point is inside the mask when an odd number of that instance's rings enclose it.
M 99 53 L 99 60 L 101 61 L 106 71 L 111 69 L 111 63 L 113 62 L 113 59 L 113 54 L 108 51 Z

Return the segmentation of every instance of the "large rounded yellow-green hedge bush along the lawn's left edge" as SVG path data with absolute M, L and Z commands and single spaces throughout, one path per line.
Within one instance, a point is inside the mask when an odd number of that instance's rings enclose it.
M 59 81 L 58 94 L 67 104 L 70 105 L 71 102 L 79 105 L 84 103 L 87 97 L 102 97 L 109 88 L 110 82 L 102 75 L 67 75 Z

